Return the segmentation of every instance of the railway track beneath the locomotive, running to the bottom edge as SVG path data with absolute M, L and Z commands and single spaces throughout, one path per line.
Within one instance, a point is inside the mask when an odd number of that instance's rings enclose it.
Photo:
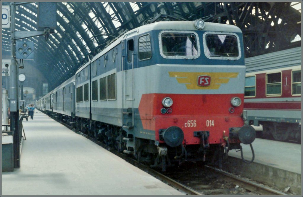
M 76 131 L 70 125 L 58 121 L 54 117 L 51 118 L 186 195 L 289 195 L 211 166 L 199 166 L 194 162 L 164 173 L 158 172 L 102 142 L 96 141 L 87 134 Z

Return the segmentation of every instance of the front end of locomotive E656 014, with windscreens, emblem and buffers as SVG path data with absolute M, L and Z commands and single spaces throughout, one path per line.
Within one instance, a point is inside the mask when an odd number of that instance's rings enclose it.
M 162 159 L 216 157 L 221 163 L 229 150 L 255 139 L 254 128 L 243 126 L 242 33 L 232 25 L 201 20 L 184 24 L 175 22 L 174 30 L 158 31 L 159 61 L 150 68 L 158 79 L 155 93 L 142 94 L 142 127 L 155 131 Z

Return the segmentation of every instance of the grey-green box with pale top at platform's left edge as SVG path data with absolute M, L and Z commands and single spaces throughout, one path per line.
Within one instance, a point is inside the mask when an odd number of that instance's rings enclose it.
M 2 134 L 2 172 L 14 171 L 13 136 Z

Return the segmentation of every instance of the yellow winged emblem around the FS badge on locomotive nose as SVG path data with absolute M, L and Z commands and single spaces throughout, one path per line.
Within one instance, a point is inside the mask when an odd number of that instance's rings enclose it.
M 168 72 L 170 77 L 176 77 L 178 83 L 184 83 L 187 89 L 217 90 L 222 83 L 228 83 L 230 78 L 236 78 L 239 73 L 192 73 L 192 72 Z M 210 84 L 201 86 L 201 76 L 209 76 Z M 197 83 L 198 81 L 198 83 Z

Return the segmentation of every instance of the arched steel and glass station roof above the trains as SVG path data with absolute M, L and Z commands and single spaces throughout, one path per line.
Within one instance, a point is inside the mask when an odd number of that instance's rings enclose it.
M 10 2 L 2 1 L 2 5 Z M 18 5 L 16 30 L 37 31 L 37 2 Z M 37 67 L 58 86 L 124 31 L 159 13 L 240 27 L 245 56 L 301 46 L 301 2 L 57 2 L 57 28 L 32 37 Z M 2 58 L 10 59 L 10 29 L 2 29 Z M 52 82 L 52 83 L 51 83 Z M 55 82 L 55 83 L 54 83 Z

